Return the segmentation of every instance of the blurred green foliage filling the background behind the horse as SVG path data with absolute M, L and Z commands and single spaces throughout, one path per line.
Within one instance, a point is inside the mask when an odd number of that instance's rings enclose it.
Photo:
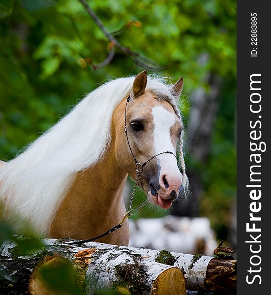
M 208 169 L 199 169 L 206 191 L 202 213 L 210 213 L 219 227 L 213 209 L 230 207 L 236 185 L 236 1 L 88 2 L 108 31 L 127 24 L 115 35 L 123 46 L 168 65 L 160 75 L 184 77 L 185 122 L 191 91 L 208 89 L 209 72 L 223 78 Z M 117 50 L 109 65 L 94 71 L 90 64 L 106 58 L 108 43 L 78 0 L 0 2 L 0 159 L 12 159 L 85 93 L 143 70 Z M 150 216 L 142 212 L 139 216 Z

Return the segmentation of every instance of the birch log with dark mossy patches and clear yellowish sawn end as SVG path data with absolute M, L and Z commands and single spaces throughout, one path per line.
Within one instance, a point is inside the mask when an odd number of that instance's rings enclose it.
M 186 294 L 180 268 L 142 259 L 140 254 L 128 248 L 113 246 L 104 250 L 92 255 L 85 277 L 85 282 L 90 282 L 86 284 L 87 295 L 107 288 L 126 289 L 130 294 L 140 295 Z

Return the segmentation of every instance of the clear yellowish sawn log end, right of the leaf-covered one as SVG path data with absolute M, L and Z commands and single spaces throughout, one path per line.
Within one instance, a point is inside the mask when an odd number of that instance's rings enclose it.
M 182 295 L 186 294 L 186 282 L 181 269 L 166 269 L 154 280 L 151 295 Z

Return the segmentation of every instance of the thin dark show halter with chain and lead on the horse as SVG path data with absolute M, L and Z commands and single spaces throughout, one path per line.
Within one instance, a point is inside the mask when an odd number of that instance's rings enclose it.
M 124 221 L 125 221 L 126 218 L 129 218 L 130 216 L 135 215 L 142 207 L 144 207 L 148 203 L 148 200 L 145 200 L 136 209 L 133 209 L 132 208 L 133 200 L 134 200 L 134 195 L 135 195 L 135 191 L 136 191 L 136 186 L 138 184 L 138 180 L 140 182 L 141 188 L 143 189 L 143 184 L 142 184 L 142 179 L 141 179 L 141 173 L 143 172 L 143 167 L 147 163 L 149 163 L 152 159 L 154 159 L 155 157 L 157 157 L 157 156 L 159 156 L 161 154 L 164 154 L 164 153 L 165 154 L 173 154 L 175 156 L 175 158 L 177 159 L 176 155 L 172 151 L 163 151 L 163 152 L 160 152 L 157 155 L 151 157 L 148 161 L 144 162 L 143 164 L 141 164 L 140 162 L 137 161 L 137 159 L 136 159 L 136 157 L 135 157 L 135 155 L 134 155 L 134 153 L 132 151 L 130 142 L 129 142 L 128 133 L 127 133 L 127 127 L 126 127 L 126 109 L 127 109 L 127 104 L 128 104 L 129 101 L 130 101 L 130 96 L 127 97 L 127 101 L 126 101 L 126 105 L 125 105 L 124 132 L 125 132 L 125 135 L 126 135 L 126 138 L 127 138 L 127 143 L 128 143 L 129 149 L 130 149 L 131 154 L 132 154 L 132 156 L 134 158 L 134 161 L 135 161 L 136 179 L 135 179 L 135 182 L 134 182 L 134 187 L 133 187 L 133 190 L 132 190 L 132 194 L 131 194 L 131 199 L 130 199 L 128 210 L 127 210 L 126 214 L 123 216 L 122 220 L 115 227 L 113 227 L 112 229 L 108 230 L 104 234 L 102 234 L 100 236 L 95 236 L 95 237 L 92 237 L 92 238 L 89 238 L 89 239 L 86 239 L 86 240 L 80 240 L 80 241 L 76 241 L 76 242 L 68 242 L 67 244 L 69 244 L 69 245 L 75 245 L 75 244 L 81 244 L 81 243 L 86 243 L 86 242 L 94 241 L 96 239 L 99 239 L 99 238 L 102 238 L 104 236 L 107 236 L 107 235 L 111 234 L 112 232 L 120 229 L 122 227 L 122 225 L 123 225 L 123 223 L 124 223 Z

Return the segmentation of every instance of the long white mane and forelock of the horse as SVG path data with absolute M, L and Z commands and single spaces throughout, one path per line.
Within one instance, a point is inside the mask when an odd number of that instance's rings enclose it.
M 110 81 L 90 92 L 71 112 L 0 168 L 0 202 L 46 235 L 76 172 L 97 163 L 110 143 L 112 115 L 132 89 L 134 77 Z M 147 89 L 172 99 L 161 78 Z

